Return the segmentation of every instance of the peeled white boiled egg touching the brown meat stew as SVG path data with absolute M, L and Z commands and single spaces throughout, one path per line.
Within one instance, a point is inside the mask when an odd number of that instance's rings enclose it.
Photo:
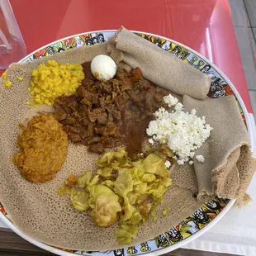
M 107 55 L 97 55 L 92 59 L 91 71 L 97 80 L 109 80 L 116 74 L 116 63 Z

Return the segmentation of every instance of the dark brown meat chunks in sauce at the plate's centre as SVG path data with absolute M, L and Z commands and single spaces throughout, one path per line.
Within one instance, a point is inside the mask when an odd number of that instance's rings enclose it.
M 168 91 L 145 80 L 139 68 L 117 69 L 115 78 L 97 81 L 89 64 L 83 64 L 86 78 L 77 92 L 55 100 L 55 119 L 70 140 L 88 145 L 90 152 L 125 145 L 129 156 L 140 153 L 146 127 Z

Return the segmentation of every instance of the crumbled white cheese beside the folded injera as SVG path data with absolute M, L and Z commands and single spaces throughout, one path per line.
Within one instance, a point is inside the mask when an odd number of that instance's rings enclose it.
M 173 111 L 168 112 L 164 107 L 155 111 L 156 120 L 149 122 L 147 135 L 160 144 L 166 144 L 177 155 L 173 159 L 177 159 L 178 164 L 192 164 L 191 160 L 195 154 L 193 151 L 199 149 L 206 141 L 212 128 L 206 124 L 205 116 L 196 116 L 195 109 L 184 112 L 183 104 L 171 94 L 164 97 L 164 102 L 168 107 L 174 107 Z M 200 160 L 201 157 L 199 156 Z

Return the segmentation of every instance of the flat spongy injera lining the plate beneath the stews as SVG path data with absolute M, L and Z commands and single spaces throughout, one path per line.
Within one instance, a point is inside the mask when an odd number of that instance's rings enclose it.
M 88 154 L 83 145 L 69 144 L 63 168 L 54 180 L 43 184 L 30 183 L 21 178 L 17 167 L 12 164 L 12 157 L 17 152 L 15 144 L 20 131 L 19 122 L 30 119 L 39 111 L 52 111 L 52 107 L 36 108 L 26 105 L 30 100 L 27 88 L 31 82 L 31 70 L 48 59 L 61 63 L 83 63 L 95 55 L 104 54 L 106 50 L 107 45 L 104 44 L 82 46 L 32 63 L 12 64 L 7 71 L 7 79 L 12 81 L 12 88 L 4 88 L 0 80 L 0 201 L 19 230 L 46 244 L 89 251 L 120 248 L 114 235 L 116 225 L 97 228 L 88 212 L 75 210 L 69 197 L 59 197 L 57 194 L 58 188 L 71 173 L 78 174 L 95 168 L 93 162 L 97 159 L 97 154 Z M 17 77 L 22 77 L 23 80 L 18 81 Z M 171 209 L 167 217 L 162 215 L 165 206 L 170 206 Z M 160 235 L 191 215 L 199 206 L 191 191 L 178 186 L 170 187 L 164 197 L 164 204 L 159 209 L 158 220 L 149 220 L 140 229 L 133 244 Z

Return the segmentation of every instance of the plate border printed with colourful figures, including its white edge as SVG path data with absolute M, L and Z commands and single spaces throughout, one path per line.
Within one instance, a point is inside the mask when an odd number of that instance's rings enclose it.
M 72 48 L 80 47 L 82 45 L 96 45 L 107 41 L 107 38 L 113 36 L 116 31 L 92 31 L 88 33 L 78 34 L 70 36 L 62 40 L 57 40 L 50 45 L 45 45 L 40 50 L 36 50 L 31 55 L 21 59 L 20 62 L 33 61 L 35 59 L 43 58 L 44 56 L 50 56 L 58 54 L 61 51 L 69 50 Z M 189 47 L 182 45 L 174 40 L 169 40 L 163 36 L 157 36 L 145 32 L 134 31 L 135 34 L 149 40 L 155 45 L 163 48 L 169 53 L 176 55 L 178 58 L 183 59 L 187 64 L 192 65 L 195 69 L 199 69 L 202 73 L 207 73 L 211 76 L 211 89 L 208 97 L 218 98 L 225 95 L 235 95 L 239 111 L 244 119 L 245 126 L 249 126 L 248 112 L 244 106 L 244 102 L 236 91 L 234 85 L 223 73 L 211 62 L 205 59 L 203 56 L 190 49 Z M 221 217 L 225 215 L 230 207 L 234 204 L 235 200 L 215 198 L 209 203 L 201 206 L 192 216 L 188 216 L 185 220 L 178 223 L 172 229 L 164 232 L 164 234 L 158 237 L 146 241 L 142 244 L 130 246 L 124 249 L 116 249 L 106 252 L 89 252 L 78 251 L 72 249 L 61 249 L 48 244 L 38 242 L 31 239 L 27 235 L 21 233 L 15 225 L 12 224 L 12 220 L 8 216 L 4 207 L 0 203 L 0 219 L 3 220 L 13 231 L 20 235 L 22 238 L 28 240 L 32 244 L 36 244 L 40 248 L 46 249 L 52 253 L 59 255 L 93 255 L 103 256 L 104 254 L 110 256 L 128 256 L 128 255 L 141 255 L 151 254 L 159 255 L 165 254 L 173 249 L 187 244 L 202 235 L 206 230 L 209 230 L 212 225 L 215 225 Z

